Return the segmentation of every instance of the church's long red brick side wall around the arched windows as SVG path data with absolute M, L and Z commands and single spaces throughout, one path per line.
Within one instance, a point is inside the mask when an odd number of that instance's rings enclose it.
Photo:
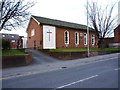
M 66 48 L 65 43 L 64 43 L 64 32 L 68 31 L 69 32 L 69 45 L 68 48 L 75 48 L 75 32 L 79 33 L 79 45 L 78 48 L 83 48 L 83 47 L 87 47 L 84 45 L 84 34 L 87 33 L 85 31 L 80 31 L 80 30 L 74 30 L 74 29 L 68 29 L 68 28 L 61 28 L 61 27 L 57 27 L 56 28 L 56 47 L 57 48 Z M 82 36 L 80 36 L 80 33 L 82 33 Z M 98 43 L 98 39 L 95 37 L 95 45 L 92 46 L 91 44 L 91 35 L 94 34 L 96 35 L 94 32 L 90 32 L 89 35 L 89 42 L 90 42 L 90 47 L 98 47 L 97 43 Z

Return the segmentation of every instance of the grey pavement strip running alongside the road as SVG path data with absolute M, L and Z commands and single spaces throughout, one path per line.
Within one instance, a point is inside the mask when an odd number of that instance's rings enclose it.
M 14 78 L 14 77 L 27 76 L 27 75 L 37 74 L 37 73 L 50 72 L 50 71 L 60 70 L 63 68 L 70 68 L 70 67 L 85 65 L 89 63 L 99 62 L 103 60 L 110 60 L 118 56 L 120 56 L 120 53 L 99 55 L 99 56 L 94 56 L 94 57 L 89 57 L 89 58 L 81 58 L 81 59 L 67 60 L 67 61 L 59 61 L 57 59 L 55 60 L 54 58 L 50 57 L 50 60 L 53 59 L 53 61 L 51 62 L 48 61 L 49 63 L 48 62 L 42 63 L 42 64 L 39 63 L 36 65 L 33 64 L 33 65 L 28 65 L 28 66 L 3 69 L 2 77 L 0 77 L 0 80 Z M 47 58 L 48 60 L 49 58 L 44 55 L 43 57 L 42 57 L 43 60 L 45 58 Z

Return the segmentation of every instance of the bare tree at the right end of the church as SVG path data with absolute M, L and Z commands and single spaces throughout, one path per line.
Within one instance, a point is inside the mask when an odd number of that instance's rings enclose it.
M 112 16 L 114 7 L 115 4 L 107 5 L 103 9 L 97 2 L 88 2 L 89 24 L 97 33 L 99 46 L 103 45 L 104 38 L 109 37 L 117 25 L 117 18 Z

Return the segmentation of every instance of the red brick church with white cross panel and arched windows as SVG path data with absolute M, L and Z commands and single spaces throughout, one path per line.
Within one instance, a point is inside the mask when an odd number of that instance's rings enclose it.
M 85 48 L 87 26 L 31 16 L 27 27 L 27 48 Z M 89 46 L 98 47 L 96 32 L 89 28 Z

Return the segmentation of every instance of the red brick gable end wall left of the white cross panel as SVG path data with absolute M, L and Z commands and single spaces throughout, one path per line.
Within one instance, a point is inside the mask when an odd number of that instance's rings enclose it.
M 34 36 L 31 36 L 32 29 L 35 29 Z M 36 47 L 40 48 L 40 41 L 42 41 L 42 27 L 31 18 L 27 28 L 27 48 L 34 48 L 34 41 L 36 41 Z

